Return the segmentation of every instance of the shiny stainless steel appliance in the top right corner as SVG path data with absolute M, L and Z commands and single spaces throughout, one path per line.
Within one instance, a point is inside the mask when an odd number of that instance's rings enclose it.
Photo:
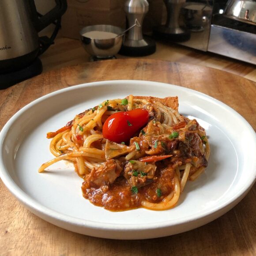
M 179 26 L 190 31 L 181 45 L 256 64 L 256 0 L 186 0 Z

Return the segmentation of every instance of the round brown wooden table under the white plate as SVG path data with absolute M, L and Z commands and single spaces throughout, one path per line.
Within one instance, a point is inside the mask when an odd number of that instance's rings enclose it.
M 45 72 L 0 91 L 0 129 L 24 105 L 79 83 L 140 79 L 177 84 L 235 109 L 256 129 L 256 83 L 213 68 L 161 60 L 84 63 Z M 171 95 L 171 92 L 169 92 Z M 27 211 L 0 182 L 0 255 L 256 255 L 256 186 L 231 211 L 185 233 L 115 241 L 72 233 Z

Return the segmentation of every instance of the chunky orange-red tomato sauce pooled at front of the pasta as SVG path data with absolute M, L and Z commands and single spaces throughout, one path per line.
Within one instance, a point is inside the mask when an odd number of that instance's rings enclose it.
M 94 205 L 104 207 L 109 211 L 136 209 L 141 207 L 141 202 L 144 200 L 159 203 L 173 191 L 173 169 L 158 169 L 156 177 L 151 184 L 138 188 L 137 193 L 132 192 L 131 186 L 123 176 L 118 177 L 113 184 L 105 187 L 90 187 L 88 183 L 84 182 L 83 196 Z

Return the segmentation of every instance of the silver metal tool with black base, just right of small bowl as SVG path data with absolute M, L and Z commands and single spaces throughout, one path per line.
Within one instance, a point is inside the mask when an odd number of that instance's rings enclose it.
M 142 23 L 148 12 L 149 4 L 147 0 L 128 0 L 124 4 L 124 11 L 128 21 L 128 27 L 136 23 L 140 26 L 134 26 L 124 37 L 124 42 L 120 54 L 126 56 L 147 56 L 155 52 L 156 45 L 151 38 L 143 37 Z

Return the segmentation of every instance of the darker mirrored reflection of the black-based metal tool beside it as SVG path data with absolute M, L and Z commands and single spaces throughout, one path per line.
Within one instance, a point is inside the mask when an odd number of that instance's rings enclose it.
M 164 0 L 167 9 L 166 24 L 159 26 L 154 31 L 155 35 L 177 42 L 190 39 L 190 32 L 179 24 L 179 15 L 185 2 L 186 0 Z

